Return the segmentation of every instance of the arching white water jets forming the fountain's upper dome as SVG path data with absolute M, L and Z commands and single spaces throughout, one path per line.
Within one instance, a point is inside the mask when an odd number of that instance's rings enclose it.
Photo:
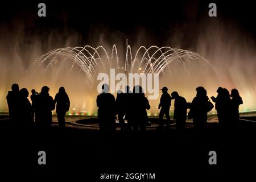
M 102 55 L 100 52 L 104 54 Z M 131 47 L 128 45 L 126 49 L 126 59 L 124 61 L 125 64 L 122 68 L 122 63 L 119 61 L 117 47 L 115 45 L 110 55 L 111 56 L 108 55 L 108 52 L 102 46 L 97 48 L 85 46 L 53 49 L 32 63 L 30 72 L 35 73 L 36 67 L 44 63 L 46 63 L 44 72 L 49 72 L 58 61 L 65 61 L 69 58 L 73 60 L 69 72 L 72 71 L 74 64 L 77 64 L 91 82 L 94 82 L 95 78 L 97 78 L 98 71 L 108 72 L 108 69 L 113 67 L 117 69 L 117 71 L 122 69 L 121 72 L 125 71 L 129 73 L 162 73 L 164 69 L 166 67 L 169 68 L 169 64 L 175 60 L 180 63 L 181 67 L 183 67 L 184 71 L 187 73 L 189 73 L 189 71 L 185 61 L 189 61 L 197 68 L 202 66 L 201 68 L 207 69 L 207 67 L 210 66 L 216 73 L 216 69 L 214 69 L 204 57 L 201 57 L 198 53 L 183 49 L 174 49 L 171 47 L 159 48 L 157 46 L 146 48 L 141 46 L 138 48 L 133 58 Z M 59 69 L 61 69 L 61 67 L 59 67 Z

